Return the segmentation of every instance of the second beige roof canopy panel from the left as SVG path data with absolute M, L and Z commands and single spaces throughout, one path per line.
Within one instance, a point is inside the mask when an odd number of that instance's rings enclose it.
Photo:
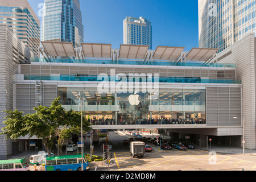
M 111 57 L 111 44 L 82 43 L 84 57 Z

